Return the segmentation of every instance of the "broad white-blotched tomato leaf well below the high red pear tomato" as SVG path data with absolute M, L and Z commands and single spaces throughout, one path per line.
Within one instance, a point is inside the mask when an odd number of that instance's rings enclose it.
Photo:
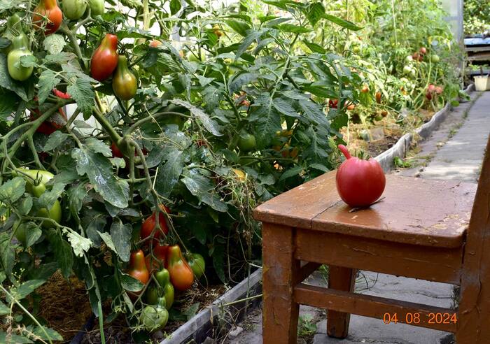
M 75 148 L 71 156 L 76 160 L 78 174 L 87 174 L 95 191 L 113 206 L 127 207 L 129 185 L 125 180 L 118 180 L 112 173 L 112 164 L 100 153 L 94 153 L 85 147 Z

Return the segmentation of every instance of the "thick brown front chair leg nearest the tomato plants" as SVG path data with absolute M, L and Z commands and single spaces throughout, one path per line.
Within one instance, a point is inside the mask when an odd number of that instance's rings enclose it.
M 264 223 L 262 228 L 262 339 L 264 344 L 295 344 L 300 305 L 293 281 L 300 270 L 294 259 L 295 229 Z

